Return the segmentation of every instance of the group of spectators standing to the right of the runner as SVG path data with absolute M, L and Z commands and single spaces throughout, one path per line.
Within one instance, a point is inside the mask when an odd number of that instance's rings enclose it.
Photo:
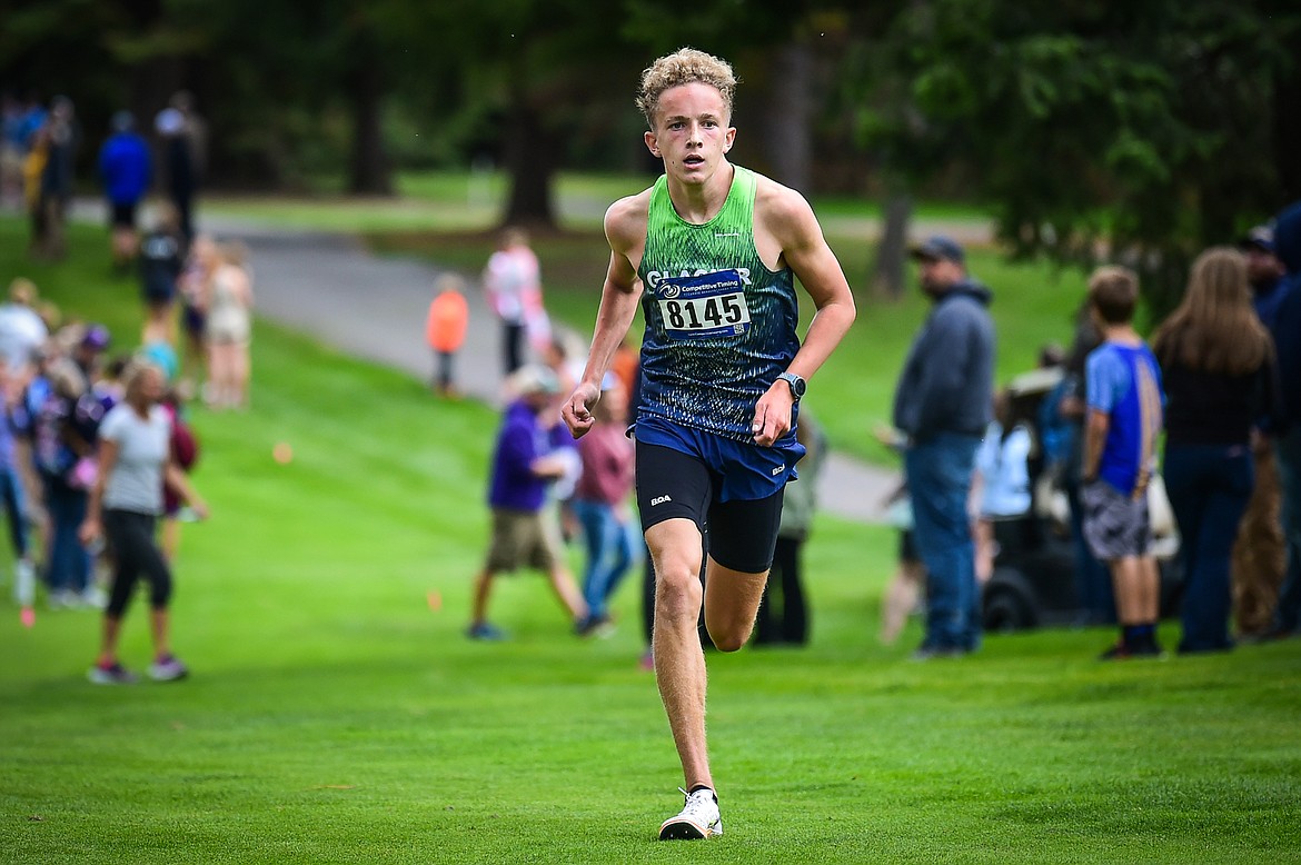
M 900 376 L 902 433 L 886 438 L 905 454 L 905 546 L 925 574 L 919 659 L 978 648 L 993 523 L 1039 514 L 1076 544 L 1075 620 L 1119 626 L 1103 658 L 1162 656 L 1163 614 L 1180 620 L 1180 653 L 1297 633 L 1301 203 L 1206 250 L 1150 350 L 1133 326 L 1137 274 L 1099 268 L 1075 343 L 1034 381 L 1033 411 L 1008 412 L 1011 385 L 994 393 L 991 294 L 967 276 L 961 246 L 930 238 L 913 254 L 934 310 Z M 889 640 L 907 584 L 886 605 Z

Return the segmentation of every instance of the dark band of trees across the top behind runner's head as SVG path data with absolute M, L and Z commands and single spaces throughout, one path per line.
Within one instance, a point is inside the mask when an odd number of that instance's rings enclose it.
M 1158 298 L 1301 196 L 1289 0 L 9 0 L 0 81 L 72 95 L 88 140 L 189 88 L 225 185 L 487 156 L 505 219 L 546 224 L 561 168 L 647 165 L 637 75 L 683 44 L 736 66 L 743 161 L 899 200 L 942 178 L 1016 254 L 1128 259 Z

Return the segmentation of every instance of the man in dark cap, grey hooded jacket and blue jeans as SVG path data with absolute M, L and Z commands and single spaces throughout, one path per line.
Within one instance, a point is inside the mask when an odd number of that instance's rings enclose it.
M 894 424 L 908 436 L 904 471 L 913 536 L 926 566 L 926 639 L 919 659 L 980 646 L 981 598 L 967 515 L 976 450 L 993 414 L 994 323 L 990 291 L 967 274 L 956 241 L 913 248 L 921 287 L 934 302 L 913 339 L 895 392 Z

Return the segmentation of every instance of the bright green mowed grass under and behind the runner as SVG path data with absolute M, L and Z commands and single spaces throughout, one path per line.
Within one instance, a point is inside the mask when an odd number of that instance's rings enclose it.
M 4 282 L 21 237 L 0 222 Z M 134 285 L 98 260 L 23 269 L 129 345 Z M 177 567 L 191 679 L 90 685 L 98 617 L 22 628 L 4 565 L 0 861 L 1301 860 L 1301 641 L 1101 665 L 1108 631 L 1045 631 L 913 663 L 916 624 L 876 641 L 892 533 L 830 518 L 812 646 L 709 658 L 726 834 L 657 843 L 680 774 L 635 580 L 610 640 L 572 637 L 533 576 L 494 597 L 510 643 L 462 636 L 494 412 L 265 325 L 254 367 L 252 411 L 194 412 L 213 515 Z

